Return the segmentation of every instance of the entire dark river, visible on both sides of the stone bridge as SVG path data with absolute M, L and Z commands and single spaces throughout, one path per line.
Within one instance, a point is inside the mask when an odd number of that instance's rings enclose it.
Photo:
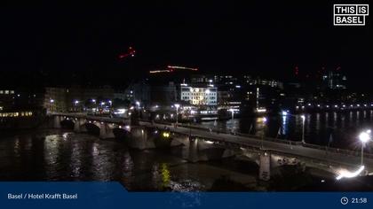
M 288 115 L 268 117 L 266 122 L 258 117 L 203 122 L 202 126 L 300 141 L 302 124 L 300 115 Z M 356 136 L 366 128 L 373 129 L 372 111 L 306 114 L 306 143 L 358 150 L 361 144 Z M 365 151 L 371 152 L 371 143 Z M 170 150 L 131 150 L 121 140 L 103 141 L 68 129 L 0 133 L 0 181 L 117 181 L 127 190 L 142 191 L 288 190 L 297 176 L 291 175 L 290 182 L 280 180 L 281 185 L 263 185 L 258 182 L 257 164 L 240 156 L 188 163 Z M 308 183 L 314 188 L 318 181 L 314 177 Z

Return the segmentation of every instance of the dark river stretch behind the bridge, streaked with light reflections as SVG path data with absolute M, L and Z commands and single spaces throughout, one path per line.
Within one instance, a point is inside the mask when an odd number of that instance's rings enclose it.
M 356 137 L 361 130 L 373 129 L 373 111 L 317 112 L 306 113 L 305 116 L 306 143 L 326 145 L 332 135 L 333 141 L 330 146 L 354 149 Z M 266 116 L 266 118 L 266 123 L 263 123 L 262 117 L 258 117 L 202 122 L 202 126 L 258 136 L 262 136 L 265 132 L 266 136 L 301 141 L 302 119 L 300 114 Z

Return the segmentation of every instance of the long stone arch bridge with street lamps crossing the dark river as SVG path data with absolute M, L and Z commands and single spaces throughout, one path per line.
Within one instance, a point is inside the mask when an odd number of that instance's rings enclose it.
M 82 132 L 84 124 L 91 123 L 99 128 L 99 137 L 114 138 L 113 130 L 122 129 L 131 134 L 129 143 L 136 149 L 156 148 L 158 132 L 170 133 L 170 146 L 182 146 L 181 157 L 192 162 L 233 156 L 237 153 L 258 163 L 259 177 L 269 178 L 271 167 L 302 163 L 329 172 L 348 173 L 361 168 L 361 151 L 349 151 L 323 146 L 280 140 L 239 133 L 219 133 L 209 128 L 180 124 L 151 123 L 139 121 L 131 126 L 130 120 L 90 116 L 83 113 L 53 113 L 53 127 L 60 128 L 60 121 L 71 120 L 75 131 Z M 285 160 L 286 159 L 286 160 Z M 373 155 L 364 153 L 362 175 L 373 174 Z

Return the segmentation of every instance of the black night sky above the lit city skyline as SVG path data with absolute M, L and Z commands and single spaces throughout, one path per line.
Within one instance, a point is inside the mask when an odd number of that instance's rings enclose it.
M 282 78 L 341 66 L 356 86 L 373 75 L 373 14 L 334 27 L 331 1 L 133 2 L 0 6 L 0 70 L 127 76 L 174 64 Z M 136 58 L 118 62 L 129 46 Z

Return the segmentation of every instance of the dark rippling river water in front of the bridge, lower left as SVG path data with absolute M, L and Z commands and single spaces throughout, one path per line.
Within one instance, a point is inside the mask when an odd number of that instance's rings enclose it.
M 169 151 L 133 151 L 70 131 L 7 134 L 0 138 L 0 181 L 118 181 L 128 190 L 210 190 L 222 178 L 242 190 L 257 183 L 258 166 L 250 162 L 190 164 Z

